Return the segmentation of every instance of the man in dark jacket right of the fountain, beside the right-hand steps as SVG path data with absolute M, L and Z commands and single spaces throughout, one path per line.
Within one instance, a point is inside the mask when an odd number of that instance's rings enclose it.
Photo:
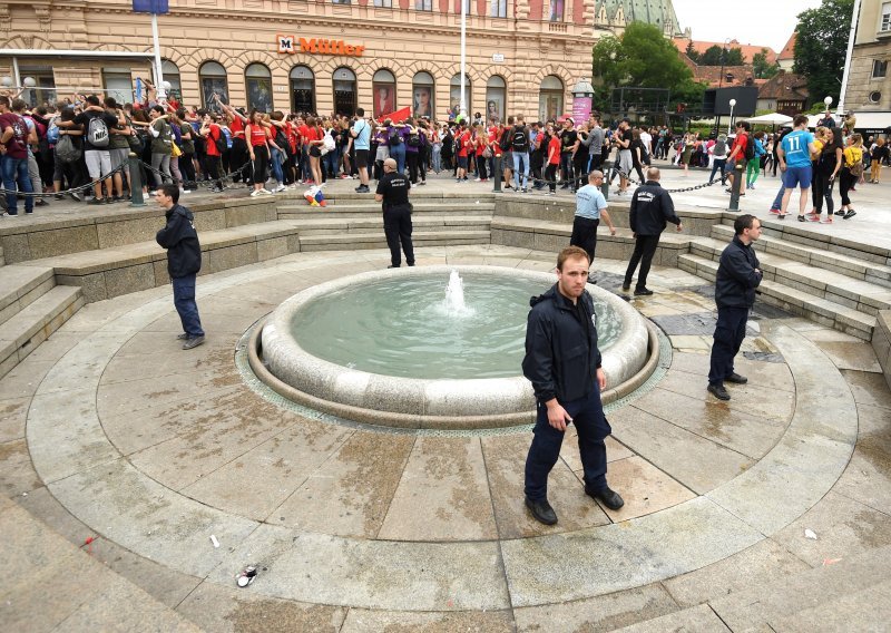
M 733 370 L 733 359 L 745 338 L 748 311 L 755 303 L 755 289 L 762 272 L 752 242 L 761 237 L 761 221 L 754 215 L 741 215 L 733 223 L 736 235 L 724 252 L 715 280 L 717 324 L 712 344 L 712 368 L 708 391 L 719 400 L 730 400 L 725 382 L 745 384 L 748 380 Z

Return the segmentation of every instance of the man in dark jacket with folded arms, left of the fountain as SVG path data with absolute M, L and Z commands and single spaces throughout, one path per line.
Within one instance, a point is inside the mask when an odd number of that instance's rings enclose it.
M 195 303 L 195 275 L 202 270 L 202 246 L 192 223 L 192 212 L 177 204 L 179 187 L 169 183 L 161 185 L 155 199 L 167 212 L 167 225 L 158 231 L 155 240 L 163 249 L 167 249 L 167 272 L 174 285 L 174 305 L 183 322 L 183 333 L 177 339 L 183 341 L 184 350 L 190 350 L 204 342 L 202 320 Z

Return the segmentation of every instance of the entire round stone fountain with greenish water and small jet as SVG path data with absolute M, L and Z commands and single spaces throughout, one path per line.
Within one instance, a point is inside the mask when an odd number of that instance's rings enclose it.
M 375 271 L 323 283 L 282 303 L 251 363 L 281 395 L 327 413 L 404 428 L 530 423 L 521 376 L 529 298 L 554 273 L 496 266 Z M 604 401 L 636 389 L 657 364 L 646 321 L 614 294 L 595 300 L 607 374 Z

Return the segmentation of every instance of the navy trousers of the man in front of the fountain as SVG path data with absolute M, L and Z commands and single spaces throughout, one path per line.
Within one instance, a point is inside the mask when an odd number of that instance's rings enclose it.
M 604 416 L 600 388 L 595 382 L 587 396 L 560 405 L 576 425 L 578 450 L 585 469 L 585 489 L 600 493 L 606 488 L 604 440 L 613 432 Z M 538 416 L 532 434 L 535 434 L 532 446 L 529 447 L 529 455 L 526 458 L 526 497 L 538 501 L 548 498 L 548 474 L 560 457 L 560 445 L 566 434 L 548 423 L 548 408 L 544 402 L 538 403 Z

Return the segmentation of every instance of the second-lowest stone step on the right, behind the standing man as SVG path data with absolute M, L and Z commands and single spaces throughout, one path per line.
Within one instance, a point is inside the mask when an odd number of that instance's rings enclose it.
M 727 242 L 722 240 L 701 237 L 691 244 L 691 252 L 718 261 L 726 245 Z M 773 250 L 758 252 L 758 262 L 765 280 L 781 282 L 866 314 L 878 315 L 880 310 L 891 309 L 891 288 L 862 277 L 852 277 L 846 271 L 815 267 L 780 255 Z M 871 279 L 874 280 L 875 276 L 872 275 Z

